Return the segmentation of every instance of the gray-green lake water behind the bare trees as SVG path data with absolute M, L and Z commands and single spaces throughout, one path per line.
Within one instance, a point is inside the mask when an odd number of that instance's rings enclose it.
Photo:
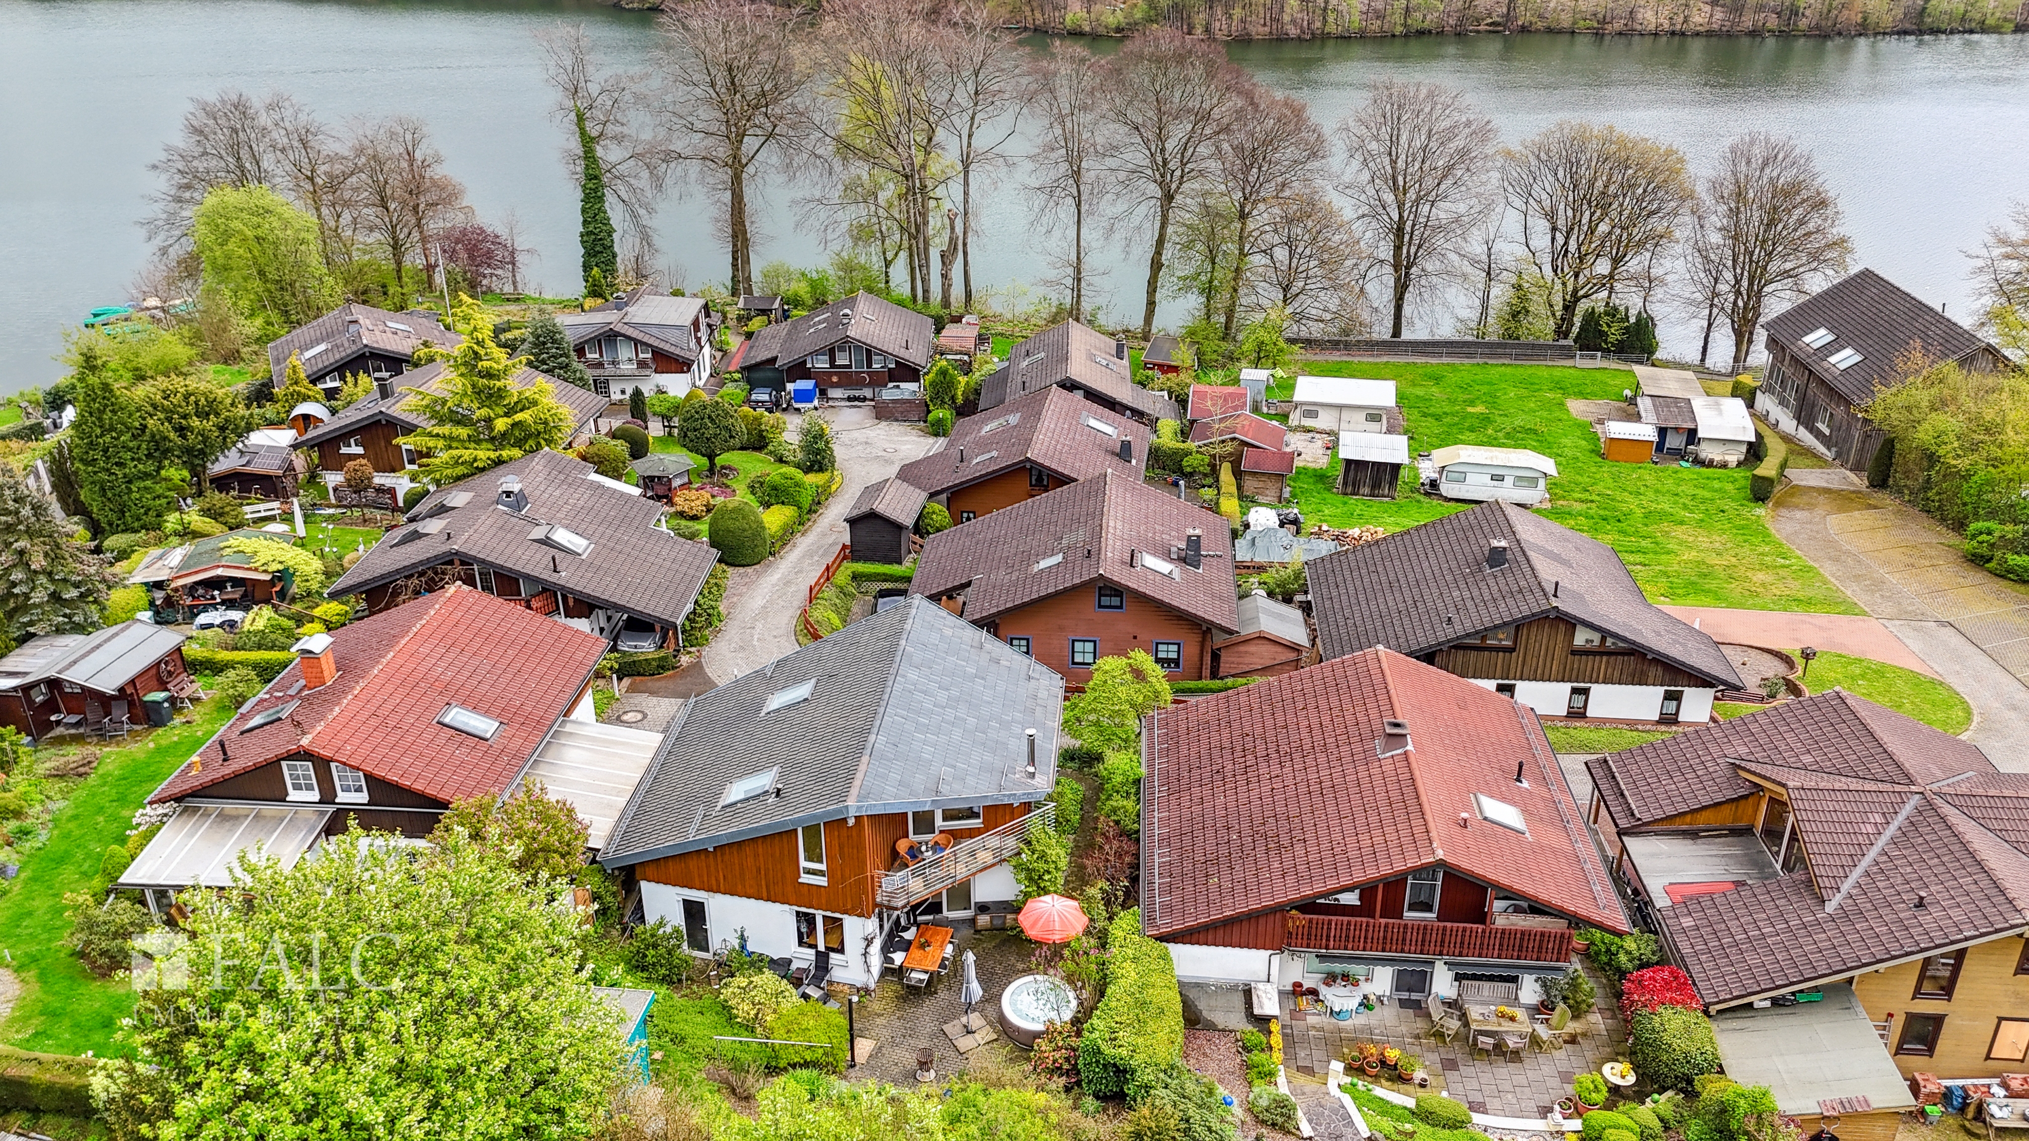
M 651 14 L 572 0 L 0 0 L 0 392 L 55 380 L 61 329 L 126 300 L 146 262 L 146 166 L 189 99 L 225 87 L 284 89 L 333 122 L 426 118 L 479 213 L 519 217 L 536 284 L 574 288 L 576 191 L 534 43 L 562 22 L 584 22 L 621 67 L 645 65 L 655 45 Z M 1418 37 L 1230 53 L 1325 124 L 1376 77 L 1420 77 L 1471 93 L 1506 140 L 1579 116 L 1670 140 L 1698 166 L 1731 134 L 1794 134 L 1840 193 L 1861 262 L 1954 317 L 1970 309 L 1962 252 L 2011 197 L 2029 197 L 2029 37 Z M 722 272 L 710 207 L 680 195 L 663 207 L 672 280 Z M 759 262 L 822 256 L 793 189 L 761 215 Z M 1000 193 L 974 240 L 974 282 L 1037 280 L 1035 242 L 1049 238 L 1021 195 Z M 1122 242 L 1116 258 L 1102 303 L 1138 313 L 1146 254 Z M 1449 319 L 1424 319 L 1437 323 Z M 1664 323 L 1666 351 L 1694 353 L 1694 339 Z

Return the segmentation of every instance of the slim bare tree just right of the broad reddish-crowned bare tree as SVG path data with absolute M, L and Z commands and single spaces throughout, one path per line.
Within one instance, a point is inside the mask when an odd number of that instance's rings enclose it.
M 1276 95 L 1248 77 L 1234 97 L 1232 126 L 1219 132 L 1219 191 L 1234 217 L 1234 266 L 1226 282 L 1226 337 L 1234 337 L 1240 292 L 1254 258 L 1262 211 L 1299 193 L 1325 162 L 1325 132 L 1303 99 Z

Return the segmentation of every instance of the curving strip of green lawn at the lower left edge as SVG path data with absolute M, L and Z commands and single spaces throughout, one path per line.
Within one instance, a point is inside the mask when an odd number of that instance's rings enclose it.
M 124 977 L 93 977 L 63 946 L 71 930 L 63 893 L 91 887 L 106 847 L 126 841 L 148 792 L 229 715 L 225 702 L 207 700 L 191 725 L 170 725 L 146 741 L 108 749 L 97 769 L 71 790 L 69 804 L 51 822 L 49 843 L 22 861 L 14 889 L 0 897 L 0 948 L 22 983 L 0 1037 L 49 1054 L 95 1050 L 106 1056 L 112 1048 L 120 1019 L 134 1009 L 134 991 Z

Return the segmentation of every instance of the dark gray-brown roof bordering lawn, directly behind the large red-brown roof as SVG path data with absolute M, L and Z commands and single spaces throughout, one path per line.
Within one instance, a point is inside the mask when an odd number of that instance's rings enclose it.
M 1510 546 L 1497 570 L 1485 562 L 1493 540 Z M 1307 568 L 1325 658 L 1370 646 L 1414 658 L 1554 613 L 1715 686 L 1741 686 L 1712 637 L 1656 609 L 1611 546 L 1514 504 L 1481 504 Z

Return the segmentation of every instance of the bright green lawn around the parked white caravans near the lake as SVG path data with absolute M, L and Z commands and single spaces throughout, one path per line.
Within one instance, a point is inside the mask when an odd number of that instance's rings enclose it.
M 1564 408 L 1566 398 L 1617 400 L 1627 388 L 1619 370 L 1562 365 L 1305 361 L 1317 376 L 1370 376 L 1396 382 L 1408 416 L 1410 451 L 1479 443 L 1520 447 L 1558 465 L 1542 514 L 1611 544 L 1650 601 L 1808 613 L 1863 613 L 1763 522 L 1747 495 L 1749 471 L 1609 463 L 1591 424 Z M 1467 504 L 1414 491 L 1416 469 L 1402 469 L 1392 501 L 1349 499 L 1331 491 L 1331 469 L 1299 467 L 1292 495 L 1311 522 L 1408 528 Z

